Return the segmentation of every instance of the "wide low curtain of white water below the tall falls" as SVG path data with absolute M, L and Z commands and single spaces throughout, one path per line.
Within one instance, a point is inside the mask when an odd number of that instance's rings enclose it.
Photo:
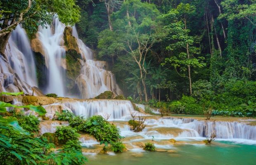
M 134 111 L 133 105 L 128 100 L 85 100 L 56 103 L 64 105 L 74 114 L 88 118 L 92 115 L 110 115 L 109 120 L 128 120 L 130 111 Z

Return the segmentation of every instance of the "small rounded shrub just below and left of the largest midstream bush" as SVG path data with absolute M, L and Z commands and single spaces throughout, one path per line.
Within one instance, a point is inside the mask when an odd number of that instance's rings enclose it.
M 70 126 L 56 127 L 55 135 L 58 137 L 59 144 L 65 144 L 68 140 L 78 140 L 78 137 L 80 137 L 76 129 Z

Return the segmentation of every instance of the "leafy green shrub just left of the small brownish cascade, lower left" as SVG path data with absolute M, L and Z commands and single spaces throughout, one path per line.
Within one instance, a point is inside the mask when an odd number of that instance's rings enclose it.
M 29 132 L 38 132 L 40 121 L 34 115 L 24 115 L 18 119 L 19 125 Z

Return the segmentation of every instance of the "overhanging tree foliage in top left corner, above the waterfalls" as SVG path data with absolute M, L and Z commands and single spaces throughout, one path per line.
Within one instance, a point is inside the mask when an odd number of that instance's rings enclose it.
M 8 11 L 2 13 L 1 19 L 10 21 L 12 25 L 18 21 L 21 14 L 24 14 L 20 21 L 30 35 L 36 33 L 38 26 L 46 27 L 47 24 L 51 24 L 52 18 L 56 15 L 62 23 L 71 26 L 80 19 L 80 9 L 74 0 L 31 0 L 31 7 L 28 5 L 28 0 L 2 0 L 1 2 L 1 9 Z M 12 31 L 15 27 L 9 26 L 6 31 Z M 0 24 L 0 28 L 6 27 Z

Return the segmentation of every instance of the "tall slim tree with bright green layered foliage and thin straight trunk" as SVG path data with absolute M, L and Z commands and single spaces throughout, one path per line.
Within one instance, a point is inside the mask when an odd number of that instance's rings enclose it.
M 195 37 L 189 35 L 188 17 L 194 11 L 194 6 L 180 3 L 176 9 L 171 9 L 163 15 L 164 19 L 171 20 L 166 29 L 169 32 L 168 38 L 172 43 L 166 49 L 175 55 L 166 58 L 166 63 L 171 63 L 180 76 L 188 78 L 190 94 L 192 94 L 191 67 L 201 68 L 205 66 L 205 63 L 202 62 L 204 57 L 194 57 L 195 54 L 200 54 L 200 48 L 194 46 Z M 180 73 L 180 71 L 186 70 L 187 75 Z

